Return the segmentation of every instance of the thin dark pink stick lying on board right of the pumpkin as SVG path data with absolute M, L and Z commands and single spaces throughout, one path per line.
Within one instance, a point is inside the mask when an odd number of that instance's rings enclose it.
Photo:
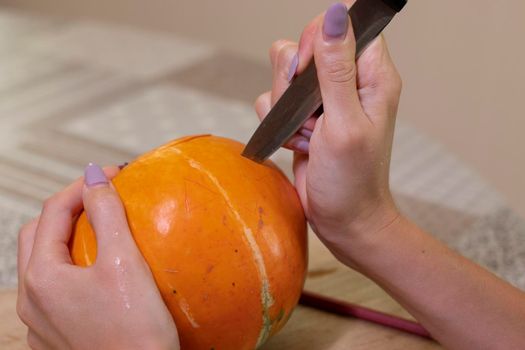
M 303 291 L 299 303 L 304 306 L 328 311 L 343 316 L 355 318 L 380 324 L 385 327 L 395 328 L 403 332 L 432 339 L 430 333 L 417 322 L 405 318 L 385 314 L 363 306 L 350 304 L 337 299 L 332 299 L 319 294 Z

